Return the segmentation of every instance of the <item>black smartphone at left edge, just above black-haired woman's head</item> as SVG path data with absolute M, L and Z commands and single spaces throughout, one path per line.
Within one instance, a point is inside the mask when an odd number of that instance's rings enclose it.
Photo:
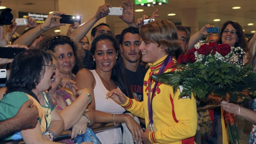
M 16 55 L 24 51 L 24 48 L 0 47 L 0 58 L 14 58 Z

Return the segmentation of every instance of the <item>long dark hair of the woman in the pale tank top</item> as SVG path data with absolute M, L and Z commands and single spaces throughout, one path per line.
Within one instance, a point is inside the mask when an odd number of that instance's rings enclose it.
M 111 73 L 111 80 L 115 82 L 115 84 L 126 96 L 133 98 L 133 94 L 127 80 L 127 75 L 124 70 L 124 62 L 120 54 L 119 43 L 117 42 L 117 40 L 110 34 L 100 34 L 96 36 L 92 41 L 91 54 L 94 55 L 96 44 L 101 40 L 109 40 L 110 42 L 112 42 L 113 47 L 115 48 L 117 53 L 116 64 L 114 65 Z M 95 68 L 95 62 L 93 63 L 93 65 Z

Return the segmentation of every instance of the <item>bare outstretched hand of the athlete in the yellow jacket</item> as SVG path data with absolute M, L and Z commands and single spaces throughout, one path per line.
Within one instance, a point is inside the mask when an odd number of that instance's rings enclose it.
M 124 104 L 127 101 L 127 97 L 119 88 L 113 89 L 108 92 L 106 97 L 107 99 L 113 99 L 117 104 Z

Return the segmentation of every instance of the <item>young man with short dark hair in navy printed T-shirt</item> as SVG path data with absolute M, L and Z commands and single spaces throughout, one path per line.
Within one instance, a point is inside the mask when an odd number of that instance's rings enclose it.
M 146 69 L 139 64 L 140 33 L 137 27 L 125 28 L 119 36 L 120 51 L 133 94 L 143 101 L 143 81 Z

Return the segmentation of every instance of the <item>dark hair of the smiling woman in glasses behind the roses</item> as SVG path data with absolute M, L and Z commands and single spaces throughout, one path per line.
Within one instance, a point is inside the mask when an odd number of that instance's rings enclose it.
M 245 42 L 245 36 L 244 36 L 243 28 L 241 27 L 241 25 L 239 23 L 237 23 L 235 21 L 227 21 L 223 24 L 223 26 L 221 28 L 221 31 L 220 31 L 219 39 L 218 39 L 217 42 L 219 44 L 222 44 L 221 37 L 222 37 L 222 34 L 223 34 L 225 28 L 228 26 L 228 24 L 231 24 L 232 27 L 234 27 L 236 29 L 238 42 L 236 42 L 235 47 L 241 47 L 245 51 L 247 51 L 247 44 Z

